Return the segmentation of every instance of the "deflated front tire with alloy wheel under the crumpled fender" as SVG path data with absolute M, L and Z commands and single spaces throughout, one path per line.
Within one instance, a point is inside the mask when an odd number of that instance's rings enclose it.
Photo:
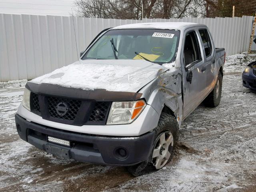
M 127 167 L 128 172 L 133 176 L 140 176 L 157 171 L 172 160 L 179 139 L 179 125 L 176 118 L 169 114 L 162 113 L 154 132 L 154 144 L 148 160 Z M 164 148 L 167 146 L 168 150 Z

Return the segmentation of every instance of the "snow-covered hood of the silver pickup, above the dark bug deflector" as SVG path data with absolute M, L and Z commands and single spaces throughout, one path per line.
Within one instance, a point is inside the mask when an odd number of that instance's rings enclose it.
M 83 90 L 137 92 L 157 77 L 164 66 L 145 60 L 80 60 L 30 82 Z

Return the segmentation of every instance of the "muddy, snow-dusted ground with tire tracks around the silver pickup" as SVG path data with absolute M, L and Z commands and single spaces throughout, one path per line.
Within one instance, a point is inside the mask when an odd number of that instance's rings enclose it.
M 14 114 L 26 81 L 0 83 L 0 191 L 256 191 L 256 92 L 241 72 L 256 55 L 227 58 L 222 100 L 183 122 L 175 158 L 134 178 L 122 167 L 54 157 L 21 140 Z

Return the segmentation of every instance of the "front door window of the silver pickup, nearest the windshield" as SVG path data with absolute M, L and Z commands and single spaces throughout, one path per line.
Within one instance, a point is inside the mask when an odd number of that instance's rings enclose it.
M 188 32 L 186 34 L 185 44 L 184 44 L 184 61 L 185 66 L 190 63 L 202 60 L 202 55 L 200 52 L 200 47 L 198 43 L 198 38 L 196 32 Z

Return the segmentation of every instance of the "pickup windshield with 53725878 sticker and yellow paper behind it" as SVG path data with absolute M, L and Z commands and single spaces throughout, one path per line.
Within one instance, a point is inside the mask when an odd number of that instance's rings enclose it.
M 158 64 L 169 63 L 176 59 L 179 38 L 177 30 L 110 30 L 98 39 L 82 60 L 146 59 Z

